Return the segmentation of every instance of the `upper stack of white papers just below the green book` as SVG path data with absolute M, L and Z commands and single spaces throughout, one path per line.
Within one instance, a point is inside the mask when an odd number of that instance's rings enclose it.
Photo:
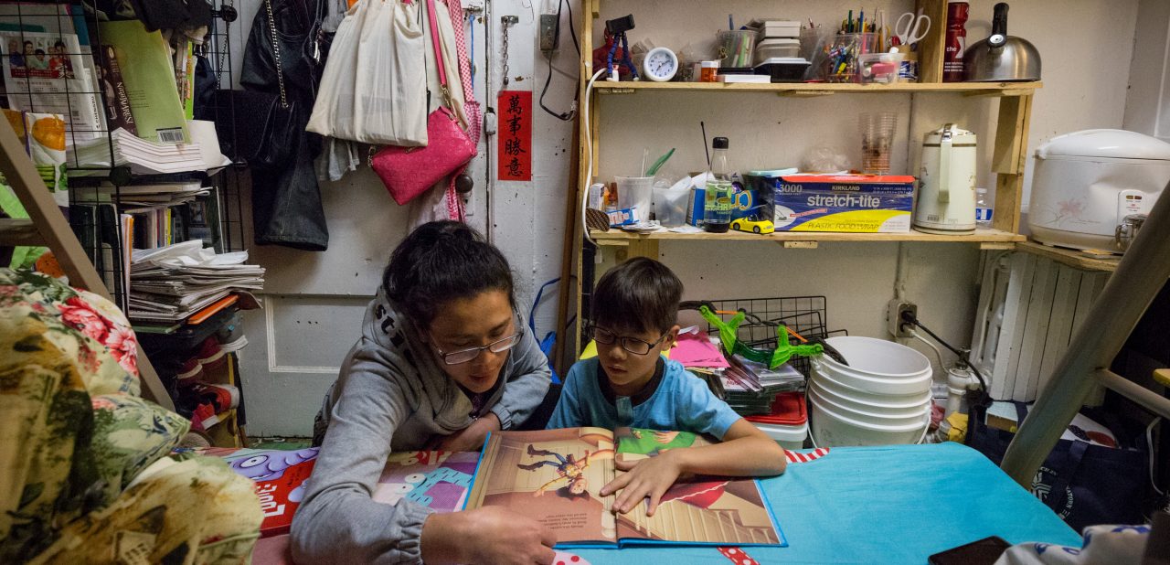
M 84 177 L 85 168 L 115 166 L 129 166 L 135 174 L 168 174 L 211 171 L 232 164 L 230 159 L 219 152 L 214 123 L 191 120 L 188 125 L 192 143 L 187 144 L 156 143 L 119 128 L 110 133 L 109 140 L 98 139 L 68 147 L 66 163 L 70 167 L 82 167 L 69 174 Z

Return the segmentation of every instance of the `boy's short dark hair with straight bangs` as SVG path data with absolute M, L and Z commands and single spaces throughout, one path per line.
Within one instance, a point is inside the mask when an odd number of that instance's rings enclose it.
M 665 332 L 677 321 L 681 299 L 682 281 L 667 266 L 634 257 L 601 275 L 591 317 L 615 332 Z

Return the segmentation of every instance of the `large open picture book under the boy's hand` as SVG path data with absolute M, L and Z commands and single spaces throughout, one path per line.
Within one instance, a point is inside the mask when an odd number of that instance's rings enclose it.
M 496 432 L 488 437 L 466 509 L 507 507 L 557 535 L 557 547 L 661 545 L 787 545 L 755 478 L 680 480 L 654 516 L 639 504 L 625 514 L 601 487 L 625 461 L 709 443 L 686 432 L 567 428 Z

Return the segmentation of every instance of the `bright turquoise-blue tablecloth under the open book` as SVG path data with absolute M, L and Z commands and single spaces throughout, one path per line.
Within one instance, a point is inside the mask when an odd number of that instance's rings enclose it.
M 987 536 L 1080 546 L 1047 507 L 958 443 L 833 448 L 762 484 L 789 542 L 745 547 L 762 564 L 924 564 Z M 731 563 L 714 547 L 571 552 L 594 565 Z

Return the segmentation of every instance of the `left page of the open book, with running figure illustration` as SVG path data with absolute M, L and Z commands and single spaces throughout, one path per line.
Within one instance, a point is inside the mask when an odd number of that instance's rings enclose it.
M 613 435 L 607 429 L 494 434 L 482 463 L 480 505 L 531 516 L 560 543 L 617 543 L 613 497 L 598 495 L 613 478 L 612 463 Z

